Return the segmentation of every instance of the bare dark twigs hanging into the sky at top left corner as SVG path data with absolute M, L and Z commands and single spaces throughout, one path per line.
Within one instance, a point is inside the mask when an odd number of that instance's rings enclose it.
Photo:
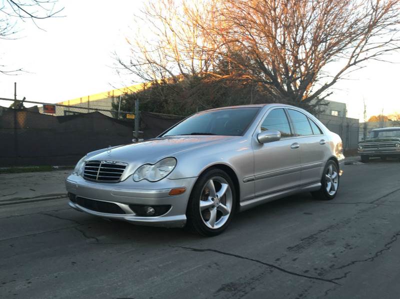
M 58 15 L 63 8 L 56 8 L 56 2 L 57 0 L 0 0 L 0 39 L 15 39 L 19 21 L 30 20 L 38 27 L 37 20 Z M 15 74 L 21 70 L 5 70 L 4 67 L 0 64 L 0 73 Z

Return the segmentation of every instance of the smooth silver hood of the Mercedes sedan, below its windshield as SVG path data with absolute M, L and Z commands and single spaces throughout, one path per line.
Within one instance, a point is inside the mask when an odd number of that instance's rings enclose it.
M 235 136 L 174 136 L 150 139 L 144 142 L 104 149 L 87 160 L 125 162 L 129 165 L 154 164 L 162 158 L 176 156 L 181 152 L 212 146 L 233 139 Z M 138 165 L 138 166 L 140 166 Z

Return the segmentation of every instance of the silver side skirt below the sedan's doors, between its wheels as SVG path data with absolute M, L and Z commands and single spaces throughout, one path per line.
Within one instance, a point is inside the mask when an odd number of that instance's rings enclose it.
M 292 194 L 300 193 L 300 192 L 309 192 L 316 191 L 321 187 L 321 182 L 313 183 L 310 185 L 298 186 L 290 189 L 281 190 L 274 193 L 269 193 L 266 195 L 262 195 L 253 199 L 248 199 L 240 202 L 240 210 L 239 212 L 245 211 L 247 209 L 251 209 L 252 207 L 273 201 L 275 199 L 279 199 L 282 197 L 286 197 Z

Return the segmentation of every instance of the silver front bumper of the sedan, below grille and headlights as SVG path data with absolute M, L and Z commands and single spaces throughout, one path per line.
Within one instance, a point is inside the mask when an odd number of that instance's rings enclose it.
M 163 179 L 158 182 L 140 181 L 134 182 L 129 176 L 119 183 L 97 183 L 71 174 L 65 181 L 65 186 L 70 200 L 68 205 L 81 212 L 94 216 L 127 221 L 138 225 L 183 227 L 186 223 L 186 206 L 191 189 L 197 178 L 185 178 L 178 180 Z M 179 195 L 168 195 L 171 189 L 186 188 Z M 95 211 L 90 207 L 79 205 L 73 199 L 79 197 L 85 201 L 102 205 L 112 205 L 121 213 L 108 211 Z M 138 206 L 170 206 L 169 210 L 160 216 L 138 216 L 130 205 Z

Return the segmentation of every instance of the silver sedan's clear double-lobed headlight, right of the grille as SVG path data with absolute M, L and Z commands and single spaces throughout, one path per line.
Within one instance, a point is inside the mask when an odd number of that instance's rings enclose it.
M 168 157 L 159 160 L 154 165 L 144 164 L 136 169 L 133 174 L 133 181 L 138 182 L 141 180 L 147 180 L 150 182 L 156 182 L 165 178 L 176 166 L 176 159 Z

